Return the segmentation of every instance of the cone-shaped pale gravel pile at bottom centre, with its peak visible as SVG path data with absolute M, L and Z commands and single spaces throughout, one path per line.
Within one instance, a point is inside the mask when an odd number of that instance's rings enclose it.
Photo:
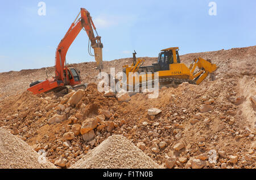
M 71 168 L 152 169 L 160 166 L 131 141 L 121 135 L 114 135 L 88 152 Z

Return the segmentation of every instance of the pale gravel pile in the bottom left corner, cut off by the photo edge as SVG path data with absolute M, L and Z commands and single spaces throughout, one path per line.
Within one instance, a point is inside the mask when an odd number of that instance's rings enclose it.
M 46 161 L 39 163 L 39 154 L 18 137 L 0 128 L 0 168 L 55 168 Z

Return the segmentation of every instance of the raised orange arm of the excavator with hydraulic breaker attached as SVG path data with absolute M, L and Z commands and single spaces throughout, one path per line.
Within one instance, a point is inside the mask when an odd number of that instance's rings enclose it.
M 80 15 L 81 15 L 81 18 L 79 18 Z M 100 71 L 101 69 L 103 69 L 103 64 L 102 64 L 103 45 L 101 43 L 101 37 L 98 36 L 97 34 L 96 27 L 93 24 L 90 13 L 86 9 L 81 8 L 79 15 L 77 15 L 75 21 L 71 24 L 71 27 L 69 27 L 67 33 L 65 34 L 63 39 L 60 41 L 60 44 L 56 49 L 56 55 L 55 55 L 56 80 L 60 80 L 65 83 L 65 79 L 67 79 L 64 77 L 64 66 L 66 63 L 66 55 L 69 47 L 71 46 L 73 41 L 76 39 L 77 35 L 82 30 L 82 28 L 84 28 L 84 30 L 86 31 L 86 34 L 88 35 L 91 43 L 91 47 L 94 49 L 94 56 L 97 63 L 97 68 L 100 69 Z M 93 30 L 96 31 L 96 34 L 97 34 L 96 37 L 94 36 Z M 66 71 L 67 71 L 67 68 L 66 68 Z M 67 72 L 65 74 L 66 76 L 68 76 Z

